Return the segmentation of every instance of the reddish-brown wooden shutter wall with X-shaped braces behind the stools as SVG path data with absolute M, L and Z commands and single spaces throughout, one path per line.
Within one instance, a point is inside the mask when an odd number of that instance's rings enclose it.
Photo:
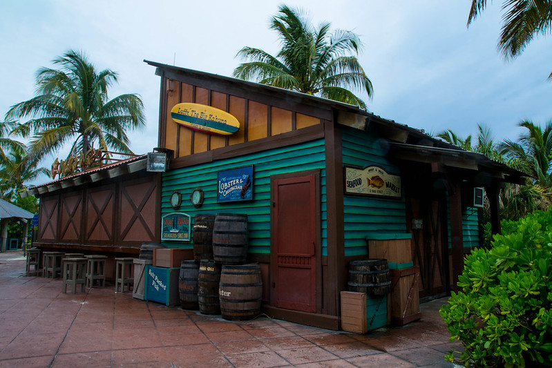
M 140 247 L 158 242 L 159 175 L 64 189 L 40 197 L 38 242 Z

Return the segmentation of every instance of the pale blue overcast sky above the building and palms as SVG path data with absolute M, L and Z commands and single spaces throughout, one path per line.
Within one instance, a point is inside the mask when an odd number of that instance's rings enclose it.
M 120 83 L 110 97 L 137 93 L 147 128 L 131 133 L 135 153 L 157 146 L 160 78 L 144 59 L 231 76 L 243 46 L 275 55 L 269 20 L 282 1 L 0 0 L 0 118 L 35 93 L 41 67 L 74 49 Z M 497 51 L 502 1 L 466 28 L 471 1 L 296 0 L 315 25 L 352 30 L 364 43 L 359 61 L 374 86 L 370 112 L 436 135 L 461 137 L 491 127 L 516 139 L 517 124 L 552 119 L 552 37 L 521 57 Z M 64 157 L 66 153 L 60 153 Z M 50 161 L 51 162 L 51 161 Z M 45 162 L 49 167 L 50 163 Z

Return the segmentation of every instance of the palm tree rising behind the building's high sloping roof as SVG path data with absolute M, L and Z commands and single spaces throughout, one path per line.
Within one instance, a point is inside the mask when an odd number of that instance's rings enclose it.
M 234 77 L 366 108 L 348 89 L 372 97 L 372 82 L 354 56 L 361 48 L 359 36 L 347 30 L 330 32 L 327 22 L 314 28 L 287 6 L 280 6 L 270 28 L 278 32 L 282 44 L 276 57 L 258 48 L 242 48 L 236 56 L 250 61 L 240 64 Z

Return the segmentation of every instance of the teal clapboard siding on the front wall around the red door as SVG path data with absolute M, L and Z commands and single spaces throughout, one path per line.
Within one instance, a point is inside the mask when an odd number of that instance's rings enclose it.
M 253 198 L 247 202 L 217 203 L 218 171 L 254 165 Z M 222 159 L 207 164 L 178 168 L 162 175 L 161 215 L 175 212 L 169 203 L 173 191 L 180 191 L 182 204 L 178 212 L 187 213 L 192 218 L 198 213 L 246 213 L 249 226 L 249 253 L 270 253 L 270 175 L 321 169 L 321 218 L 323 246 L 325 239 L 326 216 L 326 173 L 324 140 L 297 144 L 269 151 Z M 203 205 L 196 209 L 190 202 L 194 188 L 200 187 L 204 193 Z M 193 239 L 193 229 L 192 229 Z M 169 246 L 191 248 L 192 242 L 164 242 Z M 323 254 L 327 253 L 323 249 Z

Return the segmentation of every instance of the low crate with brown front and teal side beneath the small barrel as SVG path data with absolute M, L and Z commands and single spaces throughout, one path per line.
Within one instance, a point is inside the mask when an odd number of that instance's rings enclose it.
M 367 333 L 388 325 L 388 296 L 341 291 L 341 329 Z

